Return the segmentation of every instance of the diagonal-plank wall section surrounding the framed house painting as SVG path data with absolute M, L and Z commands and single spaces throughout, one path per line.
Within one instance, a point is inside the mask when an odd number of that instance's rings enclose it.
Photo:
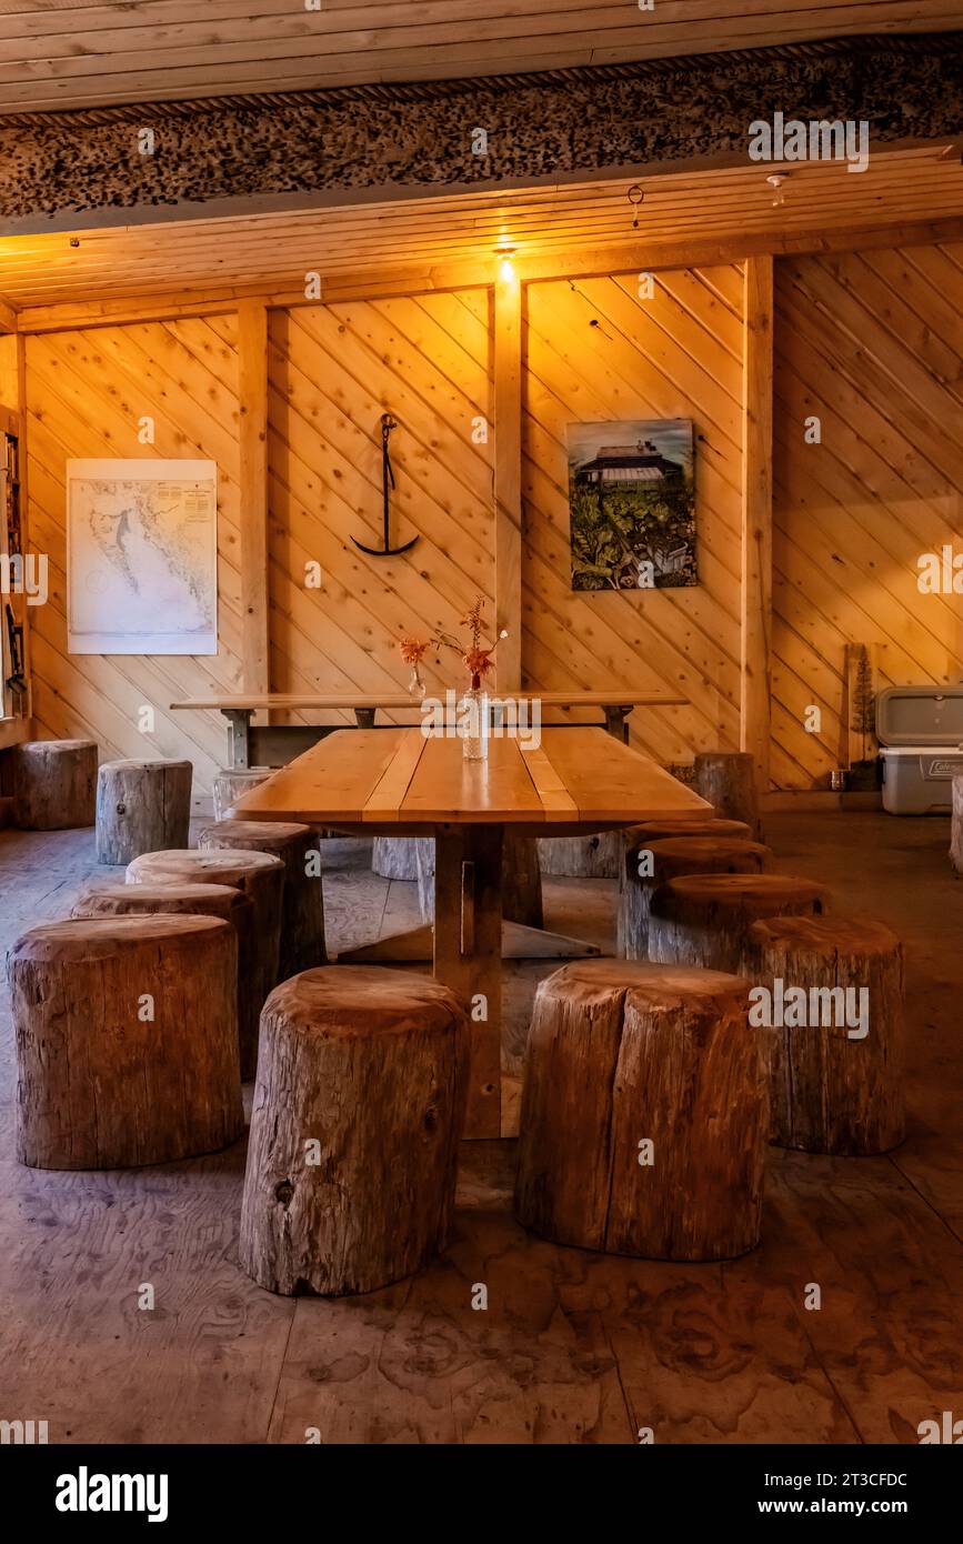
M 739 743 L 742 273 L 623 275 L 528 287 L 523 669 L 528 687 L 673 689 L 633 743 L 662 761 Z M 566 425 L 693 418 L 699 585 L 573 593 Z M 617 695 L 617 693 L 616 693 Z

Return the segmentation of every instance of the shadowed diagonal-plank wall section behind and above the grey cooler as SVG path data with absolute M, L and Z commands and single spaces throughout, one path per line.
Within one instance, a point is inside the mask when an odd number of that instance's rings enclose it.
M 963 245 L 776 264 L 776 787 L 841 764 L 847 644 L 880 687 L 963 676 L 963 601 L 917 587 L 920 554 L 963 550 L 961 315 Z

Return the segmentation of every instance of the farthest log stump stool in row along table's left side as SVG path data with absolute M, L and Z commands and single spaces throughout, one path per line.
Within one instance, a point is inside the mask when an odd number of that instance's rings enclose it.
M 318 834 L 284 820 L 219 820 L 198 837 L 202 852 L 270 852 L 284 863 L 279 980 L 324 965 L 324 885 Z

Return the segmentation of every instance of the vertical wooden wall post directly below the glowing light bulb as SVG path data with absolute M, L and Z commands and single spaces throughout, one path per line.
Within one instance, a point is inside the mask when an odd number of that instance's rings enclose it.
M 495 630 L 498 692 L 522 686 L 522 284 L 495 279 Z

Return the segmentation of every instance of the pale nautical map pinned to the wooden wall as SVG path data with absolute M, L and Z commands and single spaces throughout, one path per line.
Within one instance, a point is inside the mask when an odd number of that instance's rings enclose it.
M 68 462 L 66 596 L 71 655 L 216 655 L 216 463 Z

